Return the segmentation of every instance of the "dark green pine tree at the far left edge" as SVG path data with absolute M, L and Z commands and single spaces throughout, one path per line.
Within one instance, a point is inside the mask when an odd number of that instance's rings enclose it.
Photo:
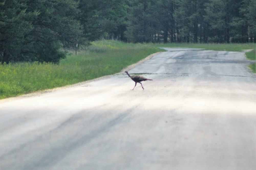
M 27 34 L 33 30 L 32 20 L 37 11 L 28 12 L 26 1 L 9 0 L 0 3 L 0 61 L 22 61 L 26 58 L 23 49 L 33 40 Z

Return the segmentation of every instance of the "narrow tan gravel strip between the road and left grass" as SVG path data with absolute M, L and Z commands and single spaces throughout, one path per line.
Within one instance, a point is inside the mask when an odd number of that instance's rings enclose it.
M 110 76 L 113 76 L 113 75 L 123 74 L 124 71 L 126 71 L 126 70 L 131 70 L 132 68 L 136 67 L 137 65 L 142 64 L 143 62 L 145 62 L 145 61 L 151 59 L 152 57 L 154 57 L 155 55 L 157 55 L 157 54 L 159 54 L 159 53 L 162 53 L 162 52 L 157 52 L 157 53 L 151 54 L 151 55 L 147 56 L 146 58 L 144 58 L 144 59 L 138 61 L 137 63 L 134 63 L 134 64 L 132 64 L 132 65 L 130 65 L 130 66 L 124 68 L 122 71 L 120 71 L 120 72 L 118 72 L 118 73 L 115 73 L 115 74 L 112 74 L 112 75 L 105 75 L 105 76 L 102 76 L 102 77 L 98 77 L 98 78 L 96 78 L 96 79 L 87 80 L 87 81 L 80 82 L 80 83 L 76 83 L 76 84 L 72 84 L 72 85 L 67 85 L 67 86 L 62 86 L 62 87 L 56 87 L 56 88 L 46 89 L 46 90 L 41 90 L 41 91 L 35 91 L 35 92 L 32 92 L 32 93 L 28 93 L 28 94 L 24 94 L 24 95 L 20 95 L 20 96 L 15 96 L 15 97 L 10 97 L 10 98 L 0 99 L 0 103 L 12 101 L 12 100 L 17 100 L 17 99 L 24 98 L 24 97 L 39 96 L 39 95 L 44 94 L 44 93 L 50 93 L 50 92 L 52 92 L 52 91 L 62 90 L 62 89 L 70 88 L 70 87 L 76 87 L 76 86 L 80 86 L 80 85 L 82 85 L 82 84 L 86 84 L 86 83 L 90 83 L 90 82 L 93 82 L 93 81 L 105 79 L 105 78 L 110 77 Z

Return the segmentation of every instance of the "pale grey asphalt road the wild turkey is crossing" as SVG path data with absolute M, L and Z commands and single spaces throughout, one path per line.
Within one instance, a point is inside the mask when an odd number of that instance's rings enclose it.
M 165 48 L 125 73 L 0 100 L 0 169 L 256 169 L 244 53 Z

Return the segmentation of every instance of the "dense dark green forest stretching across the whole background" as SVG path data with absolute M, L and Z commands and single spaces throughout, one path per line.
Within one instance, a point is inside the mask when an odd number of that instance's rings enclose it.
M 101 38 L 255 43 L 255 10 L 255 0 L 0 0 L 0 62 L 58 63 Z

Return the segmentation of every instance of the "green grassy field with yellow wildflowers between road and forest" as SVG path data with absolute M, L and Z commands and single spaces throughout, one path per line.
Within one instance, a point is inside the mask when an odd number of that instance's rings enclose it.
M 71 54 L 59 64 L 0 64 L 0 99 L 114 74 L 150 54 L 164 51 L 158 47 L 241 51 L 255 49 L 255 44 L 128 44 L 111 40 L 95 41 L 88 50 L 78 51 L 78 55 L 70 51 Z M 253 54 L 255 56 L 255 50 Z M 255 64 L 252 70 L 253 67 Z

